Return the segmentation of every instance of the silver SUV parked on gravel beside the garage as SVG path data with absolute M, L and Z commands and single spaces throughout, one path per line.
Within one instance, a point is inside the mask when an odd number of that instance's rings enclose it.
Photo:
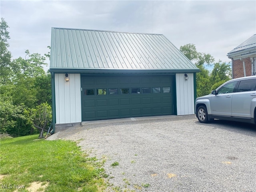
M 215 118 L 256 124 L 256 76 L 229 80 L 196 98 L 195 111 L 201 123 Z

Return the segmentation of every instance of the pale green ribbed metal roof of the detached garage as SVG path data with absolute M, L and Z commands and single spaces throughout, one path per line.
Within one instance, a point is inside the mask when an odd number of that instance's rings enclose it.
M 199 69 L 162 34 L 52 28 L 50 71 Z

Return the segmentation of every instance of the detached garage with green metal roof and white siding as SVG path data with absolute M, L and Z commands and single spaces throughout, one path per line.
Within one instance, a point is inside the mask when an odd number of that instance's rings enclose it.
M 56 124 L 194 114 L 199 69 L 164 35 L 52 28 Z

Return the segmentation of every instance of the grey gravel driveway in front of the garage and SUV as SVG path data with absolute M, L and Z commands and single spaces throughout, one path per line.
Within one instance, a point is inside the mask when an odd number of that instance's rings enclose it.
M 54 135 L 49 138 L 81 139 L 83 150 L 106 159 L 107 191 L 256 192 L 256 128 L 250 124 L 170 116 Z

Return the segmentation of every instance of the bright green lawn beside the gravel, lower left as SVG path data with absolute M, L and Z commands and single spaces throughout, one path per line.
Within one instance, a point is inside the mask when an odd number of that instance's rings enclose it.
M 38 135 L 0 140 L 0 191 L 2 185 L 48 184 L 45 192 L 99 192 L 106 188 L 102 162 L 88 158 L 75 142 L 45 139 Z M 8 191 L 16 190 L 14 187 Z

